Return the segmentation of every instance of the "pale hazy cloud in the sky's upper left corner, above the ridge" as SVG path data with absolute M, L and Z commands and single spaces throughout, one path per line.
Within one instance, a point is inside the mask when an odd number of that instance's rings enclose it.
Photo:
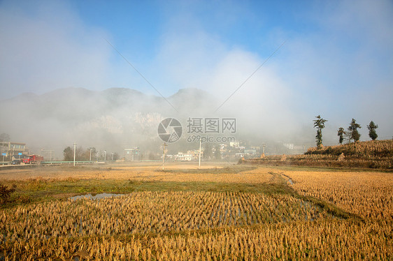
M 30 9 L 31 8 L 31 9 Z M 0 4 L 1 96 L 104 87 L 110 47 L 62 1 Z

